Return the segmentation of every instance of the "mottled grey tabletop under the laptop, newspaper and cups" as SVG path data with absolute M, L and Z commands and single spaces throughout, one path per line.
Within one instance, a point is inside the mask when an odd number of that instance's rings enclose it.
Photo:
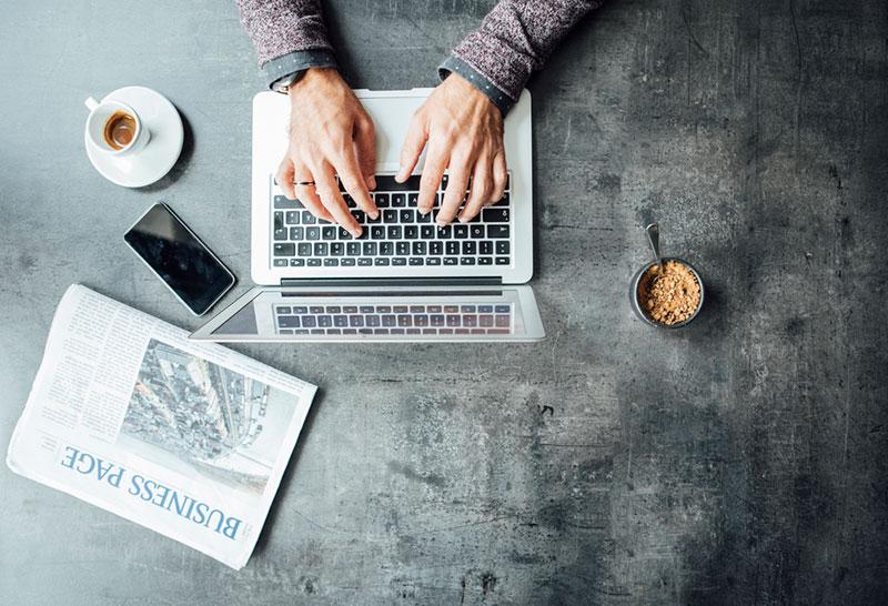
M 434 84 L 492 2 L 330 4 L 385 89 Z M 71 282 L 196 325 L 120 241 L 150 203 L 246 287 L 261 81 L 232 2 L 2 11 L 6 450 Z M 322 386 L 246 568 L 3 467 L 0 602 L 885 603 L 887 40 L 881 0 L 613 0 L 531 84 L 545 342 L 238 347 Z M 130 191 L 82 100 L 137 83 L 190 128 Z M 627 305 L 646 213 L 710 289 L 680 333 Z

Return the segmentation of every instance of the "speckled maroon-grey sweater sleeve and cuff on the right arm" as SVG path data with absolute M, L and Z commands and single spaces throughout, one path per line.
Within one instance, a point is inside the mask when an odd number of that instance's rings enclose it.
M 567 31 L 603 1 L 500 0 L 442 63 L 441 77 L 468 74 L 505 113 Z

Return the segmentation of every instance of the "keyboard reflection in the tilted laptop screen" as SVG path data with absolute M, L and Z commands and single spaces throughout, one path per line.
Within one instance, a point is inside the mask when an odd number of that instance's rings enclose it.
M 279 334 L 509 334 L 512 304 L 275 305 Z

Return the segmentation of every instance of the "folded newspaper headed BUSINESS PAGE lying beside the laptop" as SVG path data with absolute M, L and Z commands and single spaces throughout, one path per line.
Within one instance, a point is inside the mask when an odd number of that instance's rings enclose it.
M 315 391 L 72 285 L 7 464 L 241 568 Z

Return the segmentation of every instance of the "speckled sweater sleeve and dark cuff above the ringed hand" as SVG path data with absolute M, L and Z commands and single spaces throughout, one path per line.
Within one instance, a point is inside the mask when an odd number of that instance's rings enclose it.
M 312 67 L 336 67 L 320 0 L 236 0 L 269 84 Z

